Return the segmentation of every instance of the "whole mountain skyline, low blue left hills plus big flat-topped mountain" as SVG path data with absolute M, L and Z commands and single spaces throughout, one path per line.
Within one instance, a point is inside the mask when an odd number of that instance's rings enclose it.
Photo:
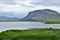
M 17 17 L 7 17 L 6 15 L 5 16 L 1 16 L 1 15 L 0 15 L 0 22 L 4 22 L 4 21 L 60 22 L 60 13 L 50 9 L 31 11 L 28 13 L 26 17 L 22 19 Z

